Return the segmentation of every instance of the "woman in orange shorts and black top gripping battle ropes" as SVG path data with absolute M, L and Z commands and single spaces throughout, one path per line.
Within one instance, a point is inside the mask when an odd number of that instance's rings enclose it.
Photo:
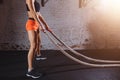
M 28 72 L 26 75 L 32 78 L 39 78 L 41 77 L 41 74 L 36 73 L 36 70 L 33 67 L 33 61 L 36 55 L 41 55 L 39 47 L 39 30 L 44 31 L 44 28 L 41 26 L 41 23 L 44 25 L 46 30 L 51 30 L 40 15 L 40 5 L 36 0 L 26 0 L 26 7 L 28 12 L 26 30 L 28 32 L 28 37 L 30 41 L 30 49 L 28 52 Z

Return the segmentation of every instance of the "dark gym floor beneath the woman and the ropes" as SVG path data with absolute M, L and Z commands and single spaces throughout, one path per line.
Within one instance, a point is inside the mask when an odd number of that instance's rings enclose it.
M 0 80 L 33 80 L 25 76 L 27 52 L 0 51 Z M 120 80 L 120 67 L 95 68 L 72 61 L 57 50 L 41 52 L 47 60 L 35 61 L 35 67 L 44 73 L 43 77 L 36 80 Z M 120 60 L 120 50 L 81 50 L 79 52 L 93 58 Z M 85 59 L 82 60 L 85 61 Z

